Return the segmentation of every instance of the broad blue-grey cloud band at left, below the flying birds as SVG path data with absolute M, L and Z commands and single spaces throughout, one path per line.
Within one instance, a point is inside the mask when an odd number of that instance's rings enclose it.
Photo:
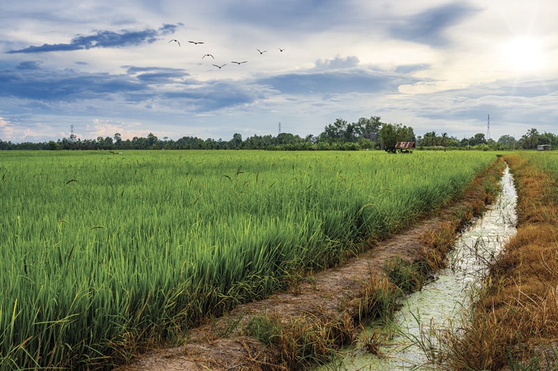
M 95 112 L 142 103 L 146 109 L 158 111 L 206 113 L 252 104 L 269 95 L 269 91 L 265 93 L 269 88 L 248 80 L 198 81 L 177 68 L 124 66 L 125 73 L 109 74 L 40 69 L 36 65 L 31 61 L 0 70 L 0 97 L 6 98 L 3 104 L 13 100 L 10 104 L 28 106 L 35 112 L 61 106 Z

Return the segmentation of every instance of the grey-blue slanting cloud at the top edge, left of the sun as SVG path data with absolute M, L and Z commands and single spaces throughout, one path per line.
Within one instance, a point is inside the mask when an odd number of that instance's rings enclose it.
M 463 19 L 478 13 L 478 8 L 467 3 L 449 3 L 430 8 L 395 22 L 390 29 L 393 38 L 432 45 L 444 46 L 448 43 L 446 29 Z

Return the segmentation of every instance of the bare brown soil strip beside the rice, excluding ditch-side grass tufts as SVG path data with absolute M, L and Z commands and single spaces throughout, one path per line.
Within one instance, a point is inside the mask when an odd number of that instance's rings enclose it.
M 288 292 L 274 294 L 263 301 L 238 306 L 219 321 L 231 321 L 243 317 L 243 324 L 238 329 L 246 328 L 248 318 L 254 315 L 268 315 L 288 323 L 295 317 L 310 315 L 323 318 L 340 316 L 350 317 L 354 326 L 359 326 L 359 299 L 363 296 L 363 287 L 370 281 L 371 275 L 379 275 L 386 261 L 400 257 L 414 261 L 423 258 L 428 249 L 435 248 L 427 244 L 425 238 L 439 229 L 454 226 L 451 239 L 466 219 L 478 214 L 490 200 L 483 187 L 475 182 L 476 188 L 469 189 L 458 202 L 451 207 L 440 210 L 430 218 L 416 223 L 415 226 L 382 242 L 371 246 L 370 250 L 346 260 L 340 267 L 327 269 L 301 278 Z M 273 349 L 246 335 L 245 331 L 234 331 L 225 338 L 216 332 L 219 322 L 191 329 L 188 340 L 180 347 L 153 349 L 141 356 L 136 356 L 128 365 L 118 371 L 145 370 L 262 370 L 278 368 L 269 363 L 273 358 Z M 223 322 L 221 322 L 223 323 Z M 279 368 L 282 368 L 279 366 Z

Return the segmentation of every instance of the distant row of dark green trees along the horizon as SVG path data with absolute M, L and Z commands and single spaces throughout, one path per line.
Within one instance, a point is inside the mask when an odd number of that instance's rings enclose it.
M 301 137 L 296 134 L 280 133 L 278 136 L 253 135 L 243 139 L 235 133 L 229 141 L 222 139 L 200 139 L 195 136 L 183 136 L 174 140 L 164 136 L 159 139 L 153 133 L 146 137 L 135 136 L 122 139 L 121 134 L 98 136 L 97 139 L 79 139 L 75 135 L 42 143 L 12 143 L 0 139 L 0 150 L 395 150 L 395 143 L 412 141 L 415 148 L 435 149 L 477 149 L 477 150 L 514 150 L 535 149 L 538 145 L 556 148 L 558 136 L 552 133 L 539 133 L 529 129 L 521 138 L 501 136 L 498 141 L 487 139 L 478 133 L 470 138 L 458 139 L 446 132 L 426 132 L 416 136 L 412 127 L 402 124 L 382 123 L 381 118 L 359 118 L 356 123 L 348 123 L 338 118 L 326 125 L 317 136 L 308 134 Z

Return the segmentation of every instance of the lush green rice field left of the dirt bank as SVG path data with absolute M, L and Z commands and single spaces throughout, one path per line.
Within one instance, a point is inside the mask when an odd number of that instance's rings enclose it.
M 495 152 L 0 152 L 0 368 L 110 367 L 342 264 Z

